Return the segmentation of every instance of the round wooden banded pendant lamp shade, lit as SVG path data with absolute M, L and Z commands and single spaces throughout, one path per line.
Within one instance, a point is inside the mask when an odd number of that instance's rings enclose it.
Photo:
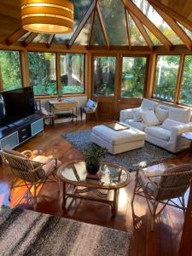
M 73 3 L 68 0 L 21 0 L 25 30 L 46 34 L 73 31 Z

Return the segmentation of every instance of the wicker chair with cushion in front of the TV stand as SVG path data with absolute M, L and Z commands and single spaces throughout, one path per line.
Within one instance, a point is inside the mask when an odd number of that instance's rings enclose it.
M 55 158 L 34 156 L 30 150 L 22 153 L 15 150 L 4 150 L 0 151 L 0 154 L 3 164 L 9 168 L 14 177 L 9 192 L 9 201 L 11 201 L 11 195 L 15 188 L 26 186 L 33 199 L 33 208 L 36 210 L 38 195 L 43 189 L 44 183 L 57 182 L 59 186 L 55 172 L 61 166 L 61 162 Z

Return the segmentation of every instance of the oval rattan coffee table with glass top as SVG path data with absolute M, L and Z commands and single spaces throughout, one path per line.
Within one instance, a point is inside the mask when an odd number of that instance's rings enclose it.
M 125 167 L 103 162 L 99 172 L 96 175 L 90 175 L 86 171 L 84 160 L 62 165 L 57 176 L 63 182 L 62 207 L 66 207 L 69 197 L 97 201 L 110 205 L 113 216 L 118 209 L 119 189 L 131 182 L 130 172 Z M 89 195 L 90 191 L 94 196 Z M 108 198 L 110 191 L 113 191 L 112 200 Z

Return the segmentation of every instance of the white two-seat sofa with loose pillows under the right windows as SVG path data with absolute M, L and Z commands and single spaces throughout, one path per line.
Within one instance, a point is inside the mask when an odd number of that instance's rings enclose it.
M 158 124 L 150 125 L 151 112 L 158 119 Z M 146 122 L 143 118 L 149 119 Z M 181 137 L 183 132 L 192 132 L 191 110 L 183 108 L 172 108 L 158 102 L 143 99 L 140 108 L 121 110 L 120 122 L 131 125 L 147 135 L 146 141 L 160 148 L 177 153 L 189 148 L 190 142 Z M 147 123 L 147 124 L 146 124 Z M 149 123 L 149 125 L 148 125 Z

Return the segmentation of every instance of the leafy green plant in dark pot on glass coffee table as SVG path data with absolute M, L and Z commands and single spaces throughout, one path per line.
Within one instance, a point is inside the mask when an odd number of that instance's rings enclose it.
M 93 145 L 90 148 L 84 148 L 83 154 L 85 156 L 87 172 L 96 174 L 96 172 L 99 171 L 101 160 L 107 152 L 107 148 L 100 148 L 96 145 Z

